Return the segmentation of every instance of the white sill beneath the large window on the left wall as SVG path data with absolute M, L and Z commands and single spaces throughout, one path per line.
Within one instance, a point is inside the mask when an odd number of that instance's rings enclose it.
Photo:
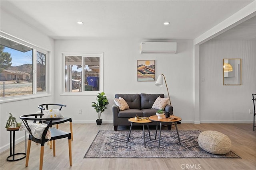
M 34 99 L 34 98 L 42 98 L 42 97 L 48 97 L 52 96 L 52 94 L 31 94 L 31 95 L 24 95 L 24 96 L 10 96 L 10 97 L 2 97 L 0 98 L 0 104 L 2 103 L 8 103 L 8 102 L 16 102 L 20 100 L 28 100 L 28 99 Z

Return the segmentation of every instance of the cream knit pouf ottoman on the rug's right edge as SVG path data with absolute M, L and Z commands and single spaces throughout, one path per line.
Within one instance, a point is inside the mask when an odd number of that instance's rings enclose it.
M 202 149 L 212 154 L 226 154 L 231 147 L 228 136 L 217 131 L 204 131 L 199 134 L 197 141 Z

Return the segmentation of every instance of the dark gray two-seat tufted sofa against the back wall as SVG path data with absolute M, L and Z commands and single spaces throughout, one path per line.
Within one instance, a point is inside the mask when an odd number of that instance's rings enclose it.
M 164 98 L 164 94 L 115 94 L 115 98 L 123 98 L 127 102 L 130 109 L 121 111 L 115 103 L 113 104 L 112 112 L 114 130 L 117 131 L 118 126 L 130 126 L 131 123 L 128 121 L 128 119 L 135 117 L 136 115 L 141 117 L 150 117 L 152 115 L 156 115 L 156 111 L 158 109 L 151 109 L 151 107 L 158 96 Z M 170 115 L 173 115 L 172 106 L 166 105 L 164 110 L 170 112 Z M 152 122 L 150 125 L 156 125 L 156 122 Z M 165 124 L 163 123 L 163 125 Z M 171 129 L 170 124 L 168 125 L 168 129 Z

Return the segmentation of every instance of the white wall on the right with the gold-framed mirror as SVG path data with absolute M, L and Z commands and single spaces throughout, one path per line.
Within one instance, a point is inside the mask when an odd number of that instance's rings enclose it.
M 252 123 L 256 92 L 256 44 L 210 40 L 200 45 L 201 123 Z M 223 86 L 222 59 L 242 59 L 242 85 Z M 204 82 L 203 82 L 204 80 Z

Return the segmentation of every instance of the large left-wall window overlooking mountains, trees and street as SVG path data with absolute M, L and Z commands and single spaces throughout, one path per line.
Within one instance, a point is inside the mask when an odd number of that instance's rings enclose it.
M 0 96 L 46 92 L 47 52 L 0 37 Z

